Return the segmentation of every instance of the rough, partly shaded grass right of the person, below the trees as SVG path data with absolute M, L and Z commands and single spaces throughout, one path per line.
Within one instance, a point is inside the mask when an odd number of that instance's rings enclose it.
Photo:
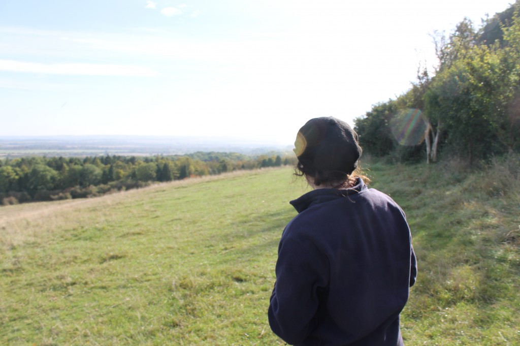
M 477 172 L 456 161 L 369 167 L 372 186 L 404 208 L 418 255 L 405 340 L 520 345 L 518 157 Z

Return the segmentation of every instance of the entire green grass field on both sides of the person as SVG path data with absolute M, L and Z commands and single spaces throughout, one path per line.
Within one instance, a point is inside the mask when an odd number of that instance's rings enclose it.
M 419 262 L 407 345 L 520 345 L 520 184 L 503 169 L 368 166 Z M 276 345 L 289 168 L 0 208 L 1 345 Z

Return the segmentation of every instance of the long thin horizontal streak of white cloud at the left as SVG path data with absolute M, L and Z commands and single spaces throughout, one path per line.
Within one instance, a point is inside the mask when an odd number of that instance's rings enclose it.
M 135 65 L 100 65 L 89 63 L 44 64 L 16 60 L 0 60 L 0 71 L 105 76 L 154 76 L 157 72 Z

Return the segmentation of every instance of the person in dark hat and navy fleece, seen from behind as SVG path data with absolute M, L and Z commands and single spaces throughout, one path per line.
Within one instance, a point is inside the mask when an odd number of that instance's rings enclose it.
M 290 203 L 268 309 L 289 344 L 403 345 L 399 315 L 417 263 L 405 213 L 358 174 L 358 136 L 339 119 L 309 120 L 296 136 L 296 174 L 313 190 Z

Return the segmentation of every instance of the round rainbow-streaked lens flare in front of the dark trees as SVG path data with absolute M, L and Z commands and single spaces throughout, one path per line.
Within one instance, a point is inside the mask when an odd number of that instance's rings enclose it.
M 426 119 L 419 109 L 405 109 L 394 115 L 390 128 L 400 145 L 419 145 L 426 134 Z

